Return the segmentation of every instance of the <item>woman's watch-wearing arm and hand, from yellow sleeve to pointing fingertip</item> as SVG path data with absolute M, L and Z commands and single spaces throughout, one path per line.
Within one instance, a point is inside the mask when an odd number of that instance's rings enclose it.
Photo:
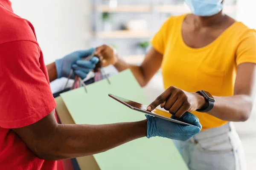
M 249 119 L 256 92 L 255 79 L 256 64 L 240 64 L 237 69 L 234 95 L 215 96 L 216 102 L 208 114 L 232 122 L 244 122 Z M 170 87 L 148 106 L 148 110 L 151 111 L 160 104 L 162 108 L 180 117 L 186 111 L 195 111 L 204 107 L 205 100 L 197 93 Z

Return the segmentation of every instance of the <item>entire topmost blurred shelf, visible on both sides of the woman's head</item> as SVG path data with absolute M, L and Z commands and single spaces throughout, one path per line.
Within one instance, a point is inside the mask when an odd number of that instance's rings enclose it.
M 152 12 L 153 9 L 149 5 L 121 5 L 116 8 L 110 8 L 107 5 L 99 6 L 102 12 Z M 158 5 L 156 11 L 159 13 L 188 13 L 189 8 L 185 5 Z M 236 12 L 236 5 L 224 5 L 224 12 Z

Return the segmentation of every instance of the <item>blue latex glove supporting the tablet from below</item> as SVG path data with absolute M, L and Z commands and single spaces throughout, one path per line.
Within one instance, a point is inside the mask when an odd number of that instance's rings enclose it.
M 186 141 L 195 136 L 202 129 L 199 119 L 192 113 L 186 112 L 177 120 L 189 123 L 195 126 L 180 125 L 158 117 L 145 115 L 148 119 L 147 137 L 154 136 L 165 137 L 180 141 Z

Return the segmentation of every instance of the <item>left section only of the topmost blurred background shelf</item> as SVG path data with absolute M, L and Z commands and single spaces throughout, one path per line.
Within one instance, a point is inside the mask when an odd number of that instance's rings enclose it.
M 122 5 L 116 8 L 99 6 L 99 10 L 102 12 L 151 12 L 152 8 L 148 5 Z

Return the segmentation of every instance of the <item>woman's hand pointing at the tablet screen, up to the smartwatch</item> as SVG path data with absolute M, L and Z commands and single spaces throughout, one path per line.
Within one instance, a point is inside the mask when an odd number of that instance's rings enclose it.
M 205 99 L 200 94 L 189 93 L 171 86 L 158 96 L 147 109 L 152 111 L 160 105 L 172 115 L 181 117 L 186 111 L 195 111 L 203 108 L 205 104 Z

